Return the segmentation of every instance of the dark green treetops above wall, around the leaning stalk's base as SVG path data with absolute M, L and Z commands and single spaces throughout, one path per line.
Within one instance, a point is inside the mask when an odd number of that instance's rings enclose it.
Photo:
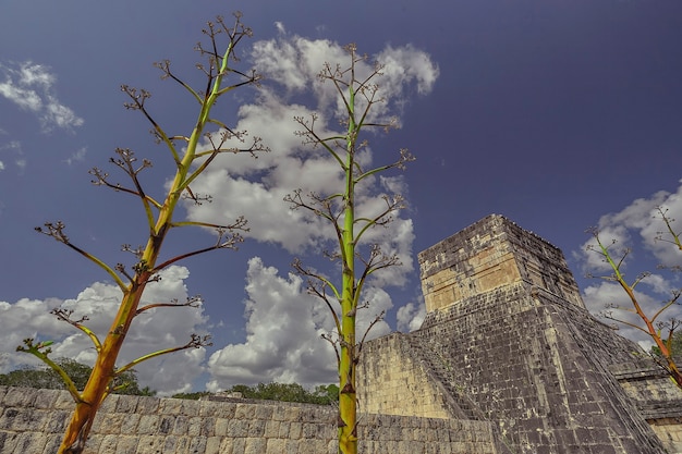
M 77 390 L 83 390 L 87 383 L 93 368 L 71 358 L 59 358 L 56 360 L 73 380 Z M 44 390 L 62 390 L 64 382 L 62 378 L 51 368 L 21 368 L 9 373 L 0 375 L 0 385 L 38 388 Z M 134 370 L 127 370 L 115 378 L 113 393 L 127 395 L 156 395 L 156 391 L 149 386 L 139 388 L 137 376 Z

